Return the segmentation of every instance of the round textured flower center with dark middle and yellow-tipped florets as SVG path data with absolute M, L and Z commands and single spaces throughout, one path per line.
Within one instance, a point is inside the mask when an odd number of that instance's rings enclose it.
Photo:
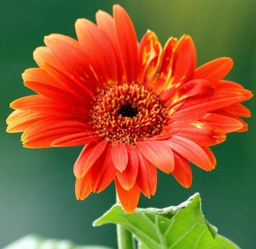
M 109 86 L 91 106 L 89 124 L 107 141 L 131 144 L 159 135 L 166 110 L 152 91 L 139 84 Z

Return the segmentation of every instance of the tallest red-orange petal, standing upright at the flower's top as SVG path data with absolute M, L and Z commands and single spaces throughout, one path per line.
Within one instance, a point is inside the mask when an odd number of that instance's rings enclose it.
M 123 7 L 113 5 L 113 17 L 127 82 L 137 79 L 138 41 L 132 21 Z

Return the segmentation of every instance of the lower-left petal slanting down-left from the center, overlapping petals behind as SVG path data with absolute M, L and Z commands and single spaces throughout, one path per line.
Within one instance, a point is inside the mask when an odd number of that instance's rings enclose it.
M 108 142 L 102 140 L 101 142 L 95 142 L 85 145 L 81 151 L 79 158 L 74 163 L 74 175 L 76 178 L 83 178 L 85 174 L 91 169 L 96 160 L 104 152 Z

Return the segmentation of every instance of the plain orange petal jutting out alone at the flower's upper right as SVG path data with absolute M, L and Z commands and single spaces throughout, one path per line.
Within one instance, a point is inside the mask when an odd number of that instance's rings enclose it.
M 218 82 L 227 76 L 232 67 L 233 61 L 230 58 L 218 58 L 197 68 L 193 79 L 206 79 L 211 82 Z

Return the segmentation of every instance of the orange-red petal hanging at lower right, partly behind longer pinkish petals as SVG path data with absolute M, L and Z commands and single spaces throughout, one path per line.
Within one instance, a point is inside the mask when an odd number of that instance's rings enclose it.
M 175 152 L 173 152 L 173 155 L 175 159 L 175 167 L 172 174 L 182 186 L 189 188 L 193 178 L 190 164 L 183 156 L 180 156 Z

